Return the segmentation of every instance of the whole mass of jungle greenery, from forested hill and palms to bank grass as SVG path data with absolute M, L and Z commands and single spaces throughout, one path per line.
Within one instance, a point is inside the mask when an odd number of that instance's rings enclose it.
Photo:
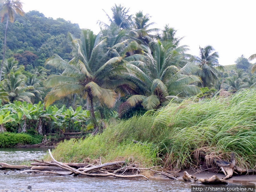
M 232 66 L 219 64 L 211 45 L 193 56 L 174 28 L 152 28 L 148 14 L 122 5 L 94 34 L 15 3 L 16 15 L 4 12 L 13 4 L 0 10 L 0 140 L 89 131 L 54 157 L 185 168 L 199 163 L 201 150 L 209 165 L 231 152 L 241 167 L 255 165 L 255 54 Z

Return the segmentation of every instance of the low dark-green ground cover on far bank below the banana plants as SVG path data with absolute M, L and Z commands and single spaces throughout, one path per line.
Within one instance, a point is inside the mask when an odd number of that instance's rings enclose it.
M 26 133 L 0 133 L 0 148 L 15 147 L 17 144 L 37 144 L 42 140 L 41 137 L 33 137 Z

